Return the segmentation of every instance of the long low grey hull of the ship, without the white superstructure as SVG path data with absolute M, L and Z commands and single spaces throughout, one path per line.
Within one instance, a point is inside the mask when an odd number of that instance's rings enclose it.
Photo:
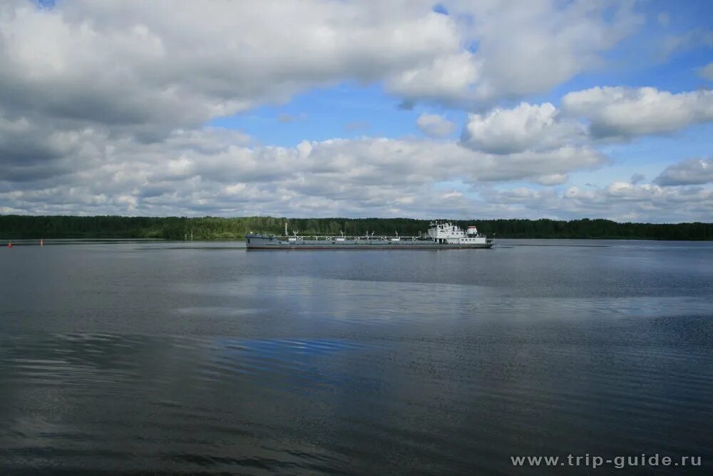
M 495 243 L 483 238 L 480 243 L 436 243 L 433 240 L 296 240 L 248 235 L 249 250 L 463 250 L 492 248 Z

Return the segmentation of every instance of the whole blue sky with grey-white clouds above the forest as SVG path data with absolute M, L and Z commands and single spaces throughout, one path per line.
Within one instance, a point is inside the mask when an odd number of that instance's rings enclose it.
M 713 221 L 713 2 L 0 2 L 0 213 Z

